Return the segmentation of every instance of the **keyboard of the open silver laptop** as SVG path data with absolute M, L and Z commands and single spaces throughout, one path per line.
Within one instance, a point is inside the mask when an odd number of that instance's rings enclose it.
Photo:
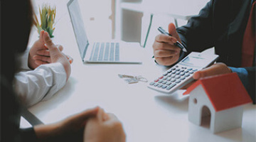
M 91 61 L 119 61 L 119 43 L 94 43 Z

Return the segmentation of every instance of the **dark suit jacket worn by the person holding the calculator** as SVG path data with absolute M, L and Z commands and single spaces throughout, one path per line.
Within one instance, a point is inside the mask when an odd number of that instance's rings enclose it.
M 211 0 L 193 16 L 186 26 L 177 28 L 188 53 L 215 47 L 220 55 L 218 62 L 240 67 L 242 38 L 250 15 L 251 0 Z M 255 65 L 245 68 L 249 72 L 250 87 L 246 87 L 253 102 L 255 99 Z

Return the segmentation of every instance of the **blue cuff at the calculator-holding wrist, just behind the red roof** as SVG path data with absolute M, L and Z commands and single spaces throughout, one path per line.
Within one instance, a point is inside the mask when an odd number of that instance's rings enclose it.
M 245 68 L 236 68 L 236 67 L 229 67 L 232 72 L 236 72 L 238 74 L 238 77 L 240 78 L 242 84 L 245 86 L 245 88 L 248 90 L 249 88 L 249 77 L 248 77 L 248 72 L 245 70 Z

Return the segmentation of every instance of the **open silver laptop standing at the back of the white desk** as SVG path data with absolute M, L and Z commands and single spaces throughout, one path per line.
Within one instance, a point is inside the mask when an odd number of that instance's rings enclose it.
M 89 43 L 85 26 L 82 21 L 78 0 L 68 1 L 68 12 L 78 43 L 83 62 L 89 63 L 131 63 L 141 64 L 142 61 L 134 55 L 138 53 L 139 43 L 96 42 Z

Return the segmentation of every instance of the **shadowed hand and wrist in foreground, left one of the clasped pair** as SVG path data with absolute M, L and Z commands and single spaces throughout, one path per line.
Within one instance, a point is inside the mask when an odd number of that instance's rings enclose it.
M 87 109 L 55 124 L 35 126 L 36 136 L 39 141 L 82 141 L 82 133 L 88 119 L 95 117 L 99 109 Z

